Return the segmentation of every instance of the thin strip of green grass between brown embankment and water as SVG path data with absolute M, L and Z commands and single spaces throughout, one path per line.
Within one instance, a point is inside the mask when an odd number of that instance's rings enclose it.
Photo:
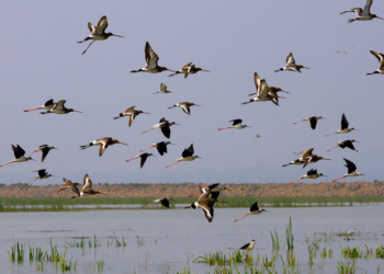
M 0 212 L 38 212 L 38 210 L 84 210 L 84 209 L 127 209 L 129 205 L 142 205 L 131 209 L 154 208 L 144 207 L 155 198 L 120 198 L 120 197 L 92 197 L 92 198 L 0 198 Z M 176 197 L 173 204 L 190 204 L 196 201 L 188 197 Z M 222 197 L 215 207 L 249 207 L 255 201 L 260 207 L 326 207 L 326 206 L 353 206 L 375 204 L 384 202 L 383 196 L 371 197 Z M 90 208 L 77 208 L 77 206 L 92 206 Z M 156 208 L 158 206 L 155 206 Z M 174 208 L 174 205 L 172 206 Z

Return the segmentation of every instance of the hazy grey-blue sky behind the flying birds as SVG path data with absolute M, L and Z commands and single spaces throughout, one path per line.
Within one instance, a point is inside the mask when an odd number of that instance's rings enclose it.
M 295 159 L 292 152 L 315 148 L 330 158 L 310 164 L 337 179 L 347 172 L 342 158 L 353 161 L 363 180 L 382 180 L 384 76 L 365 76 L 379 68 L 370 50 L 384 53 L 384 21 L 348 23 L 354 14 L 339 13 L 365 4 L 343 1 L 7 1 L 0 10 L 2 28 L 0 93 L 0 164 L 13 160 L 11 144 L 31 153 L 48 144 L 50 151 L 38 161 L 13 163 L 0 169 L 0 183 L 29 182 L 37 169 L 56 178 L 34 184 L 61 183 L 65 176 L 93 182 L 292 182 L 306 173 L 302 167 L 281 165 Z M 375 1 L 372 13 L 384 16 L 384 2 Z M 106 15 L 106 31 L 123 35 L 78 44 Z M 379 35 L 377 35 L 379 34 Z M 149 42 L 159 65 L 178 70 L 193 61 L 212 72 L 183 76 L 131 73 L 145 65 L 144 46 Z M 347 49 L 348 56 L 336 54 Z M 312 68 L 303 73 L 276 72 L 293 53 L 296 64 Z M 284 94 L 280 106 L 251 103 L 257 71 L 269 85 Z M 163 82 L 176 94 L 153 94 Z M 47 100 L 67 100 L 66 106 L 82 111 L 67 115 L 41 115 L 23 110 Z M 168 110 L 183 101 L 201 104 L 192 115 Z M 128 117 L 114 121 L 126 107 L 149 112 L 128 127 Z M 348 135 L 324 137 L 340 129 L 341 114 L 350 126 Z M 293 125 L 307 116 L 321 115 L 316 130 L 308 123 Z M 168 155 L 125 162 L 151 144 L 167 140 L 159 129 L 142 135 L 161 117 L 181 126 L 171 128 Z M 223 130 L 228 121 L 242 118 L 251 126 Z M 259 134 L 260 138 L 255 138 Z M 79 146 L 111 136 L 129 146 L 114 145 L 99 157 L 99 147 Z M 335 149 L 337 141 L 357 139 L 359 152 Z M 193 142 L 204 159 L 165 169 Z M 355 179 L 349 179 L 355 180 Z M 317 180 L 314 182 L 320 182 Z M 305 180 L 304 182 L 310 182 Z

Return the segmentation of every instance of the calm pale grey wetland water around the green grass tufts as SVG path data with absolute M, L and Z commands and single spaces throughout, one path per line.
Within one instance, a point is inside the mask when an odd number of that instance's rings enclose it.
M 301 273 L 338 273 L 340 260 L 351 264 L 351 259 L 341 255 L 340 244 L 359 247 L 360 250 L 365 250 L 365 244 L 373 250 L 376 243 L 384 244 L 384 204 L 381 203 L 352 207 L 267 208 L 269 213 L 234 222 L 247 209 L 217 208 L 211 224 L 202 209 L 1 213 L 0 270 L 1 273 L 38 273 L 41 271 L 36 271 L 36 262 L 29 261 L 29 246 L 49 250 L 50 237 L 53 244 L 57 244 L 58 251 L 63 252 L 66 242 L 80 241 L 74 238 L 90 237 L 93 241 L 95 235 L 101 244 L 98 248 L 68 248 L 66 259 L 72 263 L 77 260 L 76 273 L 184 273 L 184 266 L 190 267 L 190 273 L 215 273 L 215 266 L 193 263 L 193 260 L 205 252 L 218 250 L 228 254 L 234 252 L 228 248 L 239 248 L 252 239 L 257 243 L 252 255 L 267 254 L 271 260 L 270 231 L 275 228 L 280 237 L 275 270 L 276 273 L 283 273 L 280 255 L 286 263 L 284 242 L 290 216 L 295 237 L 293 253 L 296 254 Z M 352 228 L 358 230 L 358 235 L 349 237 L 352 239 L 350 241 L 336 236 Z M 116 247 L 115 242 L 111 244 L 113 237 L 118 241 L 124 237 L 126 247 Z M 26 243 L 25 261 L 22 264 L 10 262 L 7 253 L 18 241 Z M 319 250 L 310 267 L 308 246 L 314 241 Z M 332 258 L 321 259 L 323 248 L 327 248 L 327 251 L 331 249 Z M 100 260 L 104 262 L 101 272 L 94 266 Z M 259 270 L 261 264 L 260 260 L 255 267 Z M 379 265 L 379 273 L 384 273 L 383 259 L 355 259 L 355 273 L 377 273 Z M 245 265 L 238 264 L 237 270 L 245 273 Z M 56 267 L 52 263 L 44 263 L 42 273 L 56 273 Z M 57 273 L 61 273 L 60 269 Z

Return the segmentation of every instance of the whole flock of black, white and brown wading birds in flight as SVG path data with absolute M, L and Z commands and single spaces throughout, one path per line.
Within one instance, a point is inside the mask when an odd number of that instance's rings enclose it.
M 347 12 L 354 12 L 355 13 L 357 18 L 355 19 L 350 19 L 348 21 L 349 23 L 354 22 L 354 21 L 369 21 L 369 20 L 372 20 L 372 19 L 375 19 L 375 18 L 384 20 L 382 18 L 379 18 L 375 14 L 371 14 L 370 9 L 371 9 L 372 3 L 373 3 L 373 0 L 368 0 L 364 9 L 353 8 L 353 9 L 347 10 L 345 12 L 341 12 L 341 14 L 347 13 Z M 110 33 L 110 32 L 105 32 L 105 28 L 108 27 L 106 16 L 102 16 L 100 19 L 100 21 L 99 21 L 97 26 L 92 25 L 91 23 L 88 23 L 88 27 L 89 27 L 91 34 L 88 37 L 86 37 L 83 41 L 78 42 L 78 43 L 83 43 L 83 42 L 87 42 L 87 41 L 91 41 L 91 43 L 88 45 L 88 47 L 86 48 L 86 50 L 82 54 L 86 54 L 87 50 L 89 49 L 89 47 L 95 41 L 104 41 L 104 39 L 108 39 L 111 36 L 124 37 L 124 36 L 121 36 L 121 35 L 115 35 L 115 34 Z M 347 55 L 348 50 L 351 49 L 351 48 L 353 48 L 353 47 L 349 47 L 346 52 L 340 50 L 338 53 L 343 53 L 345 55 Z M 380 67 L 379 67 L 377 70 L 375 70 L 375 71 L 373 71 L 371 73 L 366 73 L 366 75 L 375 75 L 375 73 L 384 75 L 384 55 L 381 54 L 381 53 L 377 53 L 377 52 L 373 52 L 373 50 L 371 50 L 371 54 L 374 55 L 379 59 Z M 172 75 L 169 75 L 169 77 L 173 77 L 176 75 L 184 75 L 185 79 L 190 75 L 195 75 L 199 71 L 210 72 L 208 70 L 205 70 L 205 69 L 196 67 L 192 62 L 189 62 L 189 64 L 184 65 L 178 71 L 173 71 L 173 70 L 170 70 L 170 69 L 168 69 L 166 67 L 161 67 L 161 66 L 158 65 L 158 60 L 159 60 L 158 55 L 154 52 L 154 49 L 151 48 L 151 46 L 149 45 L 148 42 L 146 42 L 146 45 L 145 45 L 145 60 L 146 60 L 146 66 L 145 67 L 143 67 L 143 68 L 138 69 L 138 70 L 132 70 L 131 72 L 159 73 L 159 72 L 162 72 L 162 71 L 171 71 Z M 296 65 L 296 61 L 295 61 L 295 59 L 293 57 L 293 54 L 291 53 L 286 57 L 286 65 L 283 68 L 276 69 L 274 72 L 279 72 L 279 71 L 294 71 L 294 72 L 302 73 L 301 69 L 309 69 L 309 68 L 304 67 L 303 65 Z M 261 79 L 257 72 L 255 72 L 253 81 L 255 81 L 255 85 L 256 85 L 256 93 L 251 93 L 249 95 L 256 95 L 256 96 L 250 99 L 247 102 L 244 102 L 242 104 L 249 104 L 249 103 L 253 103 L 253 102 L 268 102 L 268 101 L 271 101 L 273 104 L 279 106 L 279 99 L 284 99 L 284 98 L 279 95 L 279 92 L 283 92 L 283 93 L 290 94 L 289 92 L 282 90 L 281 88 L 269 87 L 267 81 L 264 79 Z M 155 94 L 156 93 L 167 94 L 167 93 L 173 93 L 173 92 L 167 90 L 167 85 L 161 83 L 160 84 L 160 90 L 155 92 Z M 75 111 L 72 109 L 67 109 L 65 106 L 65 103 L 66 103 L 65 100 L 60 100 L 58 102 L 54 102 L 54 100 L 48 100 L 44 105 L 42 105 L 39 107 L 36 107 L 36 109 L 32 109 L 32 110 L 25 110 L 24 112 L 44 110 L 44 112 L 41 112 L 41 114 L 68 114 L 68 113 L 71 113 L 71 112 L 81 113 L 81 112 Z M 192 102 L 180 102 L 180 103 L 173 104 L 169 109 L 181 107 L 181 110 L 185 114 L 190 115 L 191 114 L 191 106 L 201 106 L 201 105 L 192 103 Z M 136 110 L 135 106 L 131 106 L 131 107 L 126 109 L 125 111 L 123 111 L 122 113 L 120 113 L 118 116 L 114 117 L 114 119 L 118 119 L 118 118 L 127 116 L 127 117 L 129 117 L 129 126 L 131 126 L 133 124 L 134 119 L 139 114 L 149 114 L 149 113 L 140 111 L 140 110 Z M 324 117 L 321 117 L 321 116 L 312 116 L 312 117 L 306 117 L 303 121 L 296 122 L 294 124 L 298 124 L 298 123 L 302 123 L 302 122 L 309 122 L 310 128 L 312 129 L 316 129 L 317 122 L 320 121 L 320 119 L 324 119 Z M 236 118 L 236 119 L 229 121 L 229 123 L 231 123 L 230 126 L 225 127 L 225 128 L 218 128 L 218 130 L 231 129 L 231 128 L 233 129 L 245 129 L 246 127 L 249 127 L 247 125 L 242 125 L 242 119 L 240 119 L 240 118 Z M 148 133 L 150 130 L 154 130 L 156 128 L 159 128 L 159 129 L 161 129 L 161 133 L 163 134 L 163 136 L 166 138 L 170 138 L 170 135 L 171 135 L 170 127 L 173 126 L 173 125 L 178 125 L 178 124 L 176 122 L 169 122 L 165 117 L 162 117 L 159 121 L 159 124 L 154 125 L 150 129 L 148 129 L 146 132 L 143 132 L 143 134 Z M 342 114 L 342 116 L 341 116 L 341 128 L 339 130 L 332 133 L 332 134 L 326 135 L 326 137 L 330 136 L 330 135 L 336 135 L 336 134 L 349 134 L 349 133 L 351 133 L 353 130 L 358 130 L 358 129 L 355 129 L 353 127 L 350 128 L 346 115 Z M 259 137 L 259 136 L 257 136 L 257 137 Z M 354 142 L 358 142 L 358 141 L 355 141 L 354 139 L 342 140 L 342 141 L 337 142 L 337 146 L 331 148 L 331 149 L 329 149 L 328 151 L 330 151 L 330 150 L 332 150 L 332 149 L 335 149 L 337 147 L 340 147 L 341 149 L 349 148 L 349 149 L 355 150 L 355 148 L 353 146 Z M 118 141 L 116 139 L 113 139 L 111 137 L 104 137 L 104 138 L 95 139 L 93 141 L 89 142 L 88 145 L 80 146 L 80 149 L 82 150 L 82 149 L 87 149 L 87 148 L 90 148 L 90 147 L 93 147 L 93 146 L 99 146 L 100 147 L 99 156 L 101 157 L 105 152 L 105 150 L 106 150 L 106 148 L 109 146 L 116 145 L 116 144 L 127 146 L 127 144 L 121 142 L 121 141 Z M 163 156 L 165 153 L 167 153 L 167 149 L 168 149 L 167 147 L 169 145 L 174 145 L 174 144 L 172 144 L 170 141 L 160 141 L 160 142 L 154 144 L 149 148 L 140 150 L 139 155 L 137 155 L 134 158 L 128 159 L 126 161 L 129 162 L 129 161 L 132 161 L 134 159 L 138 159 L 139 158 L 140 159 L 140 168 L 143 168 L 145 162 L 147 161 L 148 157 L 155 157 L 154 153 L 148 153 L 148 152 L 144 152 L 144 151 L 149 150 L 151 148 L 157 148 L 159 155 Z M 32 153 L 30 156 L 27 156 L 27 157 L 25 157 L 24 149 L 22 149 L 19 145 L 16 145 L 16 146 L 12 145 L 12 149 L 13 149 L 15 159 L 10 161 L 10 162 L 8 162 L 8 163 L 5 163 L 5 164 L 0 165 L 0 167 L 4 167 L 7 164 L 11 164 L 11 163 L 14 163 L 14 162 L 26 162 L 26 161 L 33 160 L 31 158 L 31 156 L 33 153 L 35 153 L 35 152 L 38 152 L 38 151 L 42 152 L 42 162 L 43 162 L 46 159 L 48 152 L 50 150 L 54 150 L 54 149 L 57 149 L 57 148 L 55 148 L 53 146 L 48 146 L 48 145 L 42 145 L 38 148 L 36 148 L 35 150 L 33 150 Z M 303 168 L 305 168 L 308 164 L 316 163 L 316 162 L 318 162 L 320 160 L 330 160 L 330 159 L 320 157 L 318 155 L 314 155 L 313 151 L 314 151 L 314 148 L 309 148 L 309 149 L 306 149 L 305 151 L 302 151 L 302 152 L 297 153 L 297 155 L 301 155 L 300 158 L 291 161 L 287 164 L 284 164 L 283 167 L 287 167 L 287 165 L 292 165 L 293 164 L 293 165 L 303 165 Z M 355 151 L 358 151 L 358 150 L 355 150 Z M 193 148 L 193 144 L 192 144 L 189 148 L 183 150 L 181 158 L 177 159 L 176 162 L 167 165 L 166 168 L 169 168 L 169 167 L 171 167 L 171 165 L 173 165 L 173 164 L 176 164 L 178 162 L 181 162 L 181 161 L 193 161 L 193 160 L 195 160 L 197 158 L 201 158 L 201 157 L 194 155 L 194 148 Z M 332 182 L 336 182 L 338 180 L 345 179 L 347 176 L 360 176 L 360 175 L 363 175 L 361 172 L 357 172 L 357 165 L 353 162 L 351 162 L 350 160 L 348 160 L 346 158 L 343 158 L 343 160 L 346 161 L 346 167 L 348 169 L 348 173 L 346 173 L 343 176 L 341 176 L 339 179 L 334 180 Z M 42 180 L 42 179 L 47 179 L 47 178 L 53 176 L 52 174 L 47 173 L 47 171 L 45 169 L 37 170 L 36 172 L 37 172 L 37 175 L 34 178 L 33 181 L 35 181 L 37 179 Z M 323 173 L 318 173 L 317 170 L 315 170 L 315 169 L 310 169 L 306 174 L 300 176 L 298 180 L 296 180 L 296 181 L 294 181 L 294 182 L 292 182 L 290 184 L 298 182 L 298 181 L 301 181 L 303 179 L 318 179 L 320 176 L 325 176 L 325 175 Z M 90 195 L 97 195 L 97 194 L 105 195 L 104 193 L 101 193 L 99 191 L 94 191 L 92 189 L 92 181 L 91 181 L 91 179 L 89 178 L 88 174 L 86 174 L 84 178 L 83 178 L 82 186 L 79 183 L 72 183 L 71 181 L 69 181 L 69 180 L 67 180 L 65 178 L 63 180 L 64 180 L 64 185 L 60 186 L 60 190 L 58 192 L 61 192 L 64 190 L 71 190 L 76 194 L 75 196 L 72 196 L 72 198 L 75 198 L 75 197 L 82 197 L 82 196 L 90 196 Z M 31 181 L 30 183 L 32 183 L 33 181 Z M 200 192 L 197 194 L 195 194 L 195 195 L 200 195 L 199 199 L 196 202 L 193 202 L 187 208 L 193 208 L 193 209 L 202 208 L 204 214 L 205 214 L 206 219 L 211 222 L 213 220 L 213 217 L 214 217 L 214 209 L 213 209 L 214 204 L 215 203 L 225 203 L 225 202 L 221 202 L 221 201 L 217 199 L 218 196 L 219 196 L 219 193 L 222 191 L 228 191 L 228 189 L 226 186 L 221 186 L 218 183 L 208 185 L 207 187 L 199 186 L 199 189 L 200 189 Z M 195 195 L 191 195 L 190 197 L 195 196 Z M 160 203 L 162 206 L 169 208 L 171 201 L 172 201 L 172 198 L 165 197 L 165 198 L 156 199 L 153 203 Z M 153 203 L 150 203 L 150 204 L 153 204 Z M 149 205 L 149 204 L 147 204 L 147 205 Z M 259 209 L 258 203 L 256 202 L 250 207 L 250 210 L 248 213 L 246 213 L 245 216 L 236 219 L 235 221 L 238 221 L 238 220 L 240 220 L 240 219 L 242 219 L 242 218 L 245 218 L 247 216 L 250 216 L 250 215 L 259 215 L 259 214 L 261 214 L 263 212 L 267 212 L 267 210 L 266 209 Z M 253 247 L 255 247 L 255 240 L 252 240 L 252 242 L 250 242 L 250 243 L 247 243 L 241 249 L 251 250 L 251 249 L 253 249 Z

